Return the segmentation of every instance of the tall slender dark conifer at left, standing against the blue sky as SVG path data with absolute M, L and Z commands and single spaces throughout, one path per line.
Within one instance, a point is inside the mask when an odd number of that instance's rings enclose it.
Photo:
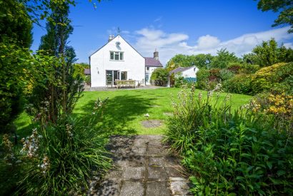
M 51 15 L 46 23 L 46 35 L 41 37 L 39 53 L 56 56 L 59 63 L 54 66 L 54 77 L 60 83 L 48 81 L 44 86 L 36 86 L 31 94 L 31 103 L 36 108 L 43 107 L 41 103 L 49 101 L 48 119 L 56 122 L 59 115 L 71 113 L 74 103 L 83 91 L 81 75 L 74 74 L 76 55 L 74 48 L 68 46 L 68 38 L 73 32 L 69 19 L 69 4 L 50 2 Z M 39 101 L 35 101 L 39 100 Z

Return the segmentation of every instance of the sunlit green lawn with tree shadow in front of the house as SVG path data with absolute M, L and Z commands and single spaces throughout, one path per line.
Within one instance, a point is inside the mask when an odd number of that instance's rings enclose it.
M 104 110 L 104 120 L 101 127 L 111 134 L 162 134 L 165 125 L 159 128 L 144 128 L 144 114 L 149 113 L 149 119 L 167 120 L 164 113 L 172 112 L 172 96 L 177 97 L 179 88 L 159 88 L 148 90 L 90 91 L 84 92 L 74 109 L 74 114 L 86 118 L 91 114 L 94 101 L 97 98 L 109 98 Z M 196 91 L 199 93 L 200 91 Z M 205 94 L 205 92 L 203 91 Z M 227 93 L 221 93 L 223 99 Z M 232 108 L 239 108 L 249 103 L 251 96 L 232 94 Z

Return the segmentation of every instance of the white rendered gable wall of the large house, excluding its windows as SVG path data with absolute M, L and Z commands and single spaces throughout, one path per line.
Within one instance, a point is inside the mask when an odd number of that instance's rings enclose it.
M 120 46 L 116 46 L 116 42 Z M 110 60 L 110 51 L 124 52 L 123 61 Z M 96 53 L 90 56 L 91 87 L 106 86 L 106 70 L 127 71 L 127 79 L 144 79 L 145 60 L 121 36 L 116 36 Z

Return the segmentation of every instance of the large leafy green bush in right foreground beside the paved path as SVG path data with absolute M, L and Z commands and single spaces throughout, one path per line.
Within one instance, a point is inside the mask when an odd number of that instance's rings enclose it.
M 167 125 L 194 195 L 292 194 L 292 138 L 255 105 L 231 113 L 229 96 L 219 106 L 212 92 L 181 91 Z

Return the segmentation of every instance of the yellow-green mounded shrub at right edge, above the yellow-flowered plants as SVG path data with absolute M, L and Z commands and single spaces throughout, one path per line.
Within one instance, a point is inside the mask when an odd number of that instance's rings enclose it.
M 261 68 L 252 75 L 252 92 L 269 91 L 278 83 L 282 83 L 290 75 L 293 75 L 292 63 L 277 63 L 273 66 Z

